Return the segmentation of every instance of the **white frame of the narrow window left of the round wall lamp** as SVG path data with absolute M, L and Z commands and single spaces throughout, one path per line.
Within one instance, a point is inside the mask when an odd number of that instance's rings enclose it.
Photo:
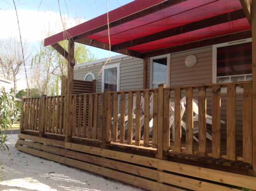
M 171 54 L 164 54 L 160 56 L 154 56 L 150 58 L 150 75 L 149 75 L 149 88 L 152 88 L 152 75 L 153 75 L 153 60 L 155 59 L 161 59 L 161 58 L 167 58 L 167 71 L 166 71 L 166 84 L 169 87 L 170 86 L 170 62 L 171 62 Z

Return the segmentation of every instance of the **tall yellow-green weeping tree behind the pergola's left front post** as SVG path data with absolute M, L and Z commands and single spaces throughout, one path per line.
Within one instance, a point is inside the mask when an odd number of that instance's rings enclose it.
M 75 22 L 72 23 L 74 25 L 82 22 L 82 18 L 77 15 L 74 20 Z M 60 27 L 60 30 L 62 30 L 62 27 L 67 28 L 67 25 L 67 17 L 65 16 L 63 17 L 63 25 L 56 24 Z M 51 35 L 53 35 L 52 32 L 48 32 L 47 36 Z M 59 42 L 59 44 L 66 50 L 68 49 L 67 40 Z M 83 44 L 76 44 L 74 54 L 76 63 L 90 62 L 97 59 Z M 67 60 L 51 46 L 44 47 L 42 41 L 38 54 L 32 60 L 30 83 L 40 94 L 58 95 L 60 78 L 63 75 L 67 76 L 67 67 Z

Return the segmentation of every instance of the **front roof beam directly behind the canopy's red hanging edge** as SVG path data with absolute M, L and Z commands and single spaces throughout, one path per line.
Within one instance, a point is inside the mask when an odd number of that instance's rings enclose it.
M 176 4 L 182 3 L 184 1 L 186 1 L 186 0 L 167 0 L 165 2 L 157 4 L 155 6 L 146 8 L 146 9 L 140 11 L 140 12 L 136 12 L 134 14 L 128 15 L 128 16 L 126 16 L 124 18 L 119 19 L 119 20 L 113 21 L 113 22 L 109 23 L 109 28 L 113 28 L 115 26 L 118 26 L 118 25 L 130 22 L 132 20 L 141 18 L 143 16 L 152 14 L 154 12 L 158 12 L 160 10 L 163 10 L 163 9 L 168 8 L 170 6 L 174 6 Z M 95 34 L 97 32 L 101 32 L 101 31 L 104 31 L 104 30 L 107 30 L 107 29 L 108 29 L 108 24 L 105 24 L 105 25 L 100 26 L 100 27 L 98 27 L 96 29 L 93 29 L 93 30 L 84 32 L 84 33 L 82 33 L 80 35 L 77 35 L 75 38 L 76 39 L 84 38 L 84 37 L 90 36 L 92 34 Z

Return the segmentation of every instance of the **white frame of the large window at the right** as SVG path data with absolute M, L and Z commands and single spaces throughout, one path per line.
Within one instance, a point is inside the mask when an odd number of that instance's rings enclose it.
M 217 83 L 217 48 L 232 46 L 237 44 L 244 44 L 248 42 L 252 42 L 252 38 L 246 38 L 243 40 L 236 40 L 232 42 L 225 42 L 221 44 L 215 44 L 212 46 L 212 83 L 213 84 Z M 243 76 L 246 76 L 246 75 L 250 75 L 250 74 L 244 74 Z M 230 77 L 230 76 L 226 76 L 226 77 Z

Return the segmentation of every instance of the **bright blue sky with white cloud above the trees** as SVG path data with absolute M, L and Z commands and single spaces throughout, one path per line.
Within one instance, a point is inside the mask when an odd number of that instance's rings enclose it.
M 128 4 L 133 0 L 108 0 L 108 11 Z M 74 17 L 79 16 L 83 22 L 91 20 L 107 12 L 107 0 L 15 0 L 22 40 L 26 40 L 34 47 L 39 48 L 40 41 L 46 38 L 46 32 L 54 34 L 63 28 L 56 27 L 61 23 L 60 12 L 69 18 L 70 28 L 74 26 Z M 0 0 L 0 38 L 19 37 L 18 22 L 13 0 Z M 88 49 L 96 58 L 108 58 L 109 51 L 94 47 Z M 111 52 L 111 56 L 118 53 Z M 25 83 L 18 85 L 24 89 Z

